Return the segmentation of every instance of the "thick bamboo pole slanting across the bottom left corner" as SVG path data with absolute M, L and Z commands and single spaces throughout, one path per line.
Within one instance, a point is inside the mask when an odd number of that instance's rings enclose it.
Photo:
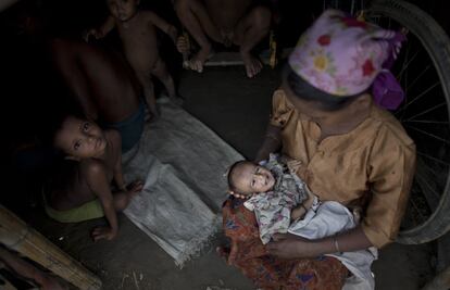
M 75 259 L 0 204 L 0 242 L 83 290 L 101 288 L 100 279 Z

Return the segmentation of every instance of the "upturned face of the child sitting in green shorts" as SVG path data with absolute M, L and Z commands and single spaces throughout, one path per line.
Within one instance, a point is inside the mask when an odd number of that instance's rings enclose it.
M 98 157 L 104 153 L 107 139 L 97 124 L 70 116 L 55 135 L 54 146 L 76 159 Z

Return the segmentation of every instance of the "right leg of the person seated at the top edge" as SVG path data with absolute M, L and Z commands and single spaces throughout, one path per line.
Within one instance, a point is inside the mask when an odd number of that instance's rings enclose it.
M 251 54 L 251 50 L 268 34 L 271 17 L 268 8 L 254 7 L 236 27 L 234 42 L 240 47 L 248 77 L 254 77 L 262 70 L 261 61 Z

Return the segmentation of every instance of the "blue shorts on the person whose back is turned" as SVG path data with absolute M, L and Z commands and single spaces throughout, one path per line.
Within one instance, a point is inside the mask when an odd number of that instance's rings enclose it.
M 118 130 L 122 137 L 122 153 L 130 150 L 140 140 L 143 131 L 143 124 L 146 117 L 146 105 L 141 100 L 138 111 L 118 123 L 104 123 L 105 128 L 113 128 Z

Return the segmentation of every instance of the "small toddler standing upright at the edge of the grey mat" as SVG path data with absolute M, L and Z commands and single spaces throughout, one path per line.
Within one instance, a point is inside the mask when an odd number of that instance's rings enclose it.
M 167 34 L 174 43 L 177 29 L 151 11 L 138 9 L 139 0 L 108 0 L 111 15 L 97 29 L 91 29 L 86 38 L 93 35 L 97 39 L 104 37 L 114 27 L 117 28 L 125 55 L 136 73 L 146 97 L 149 112 L 158 116 L 157 102 L 151 76 L 155 76 L 164 85 L 168 97 L 180 102 L 175 85 L 167 67 L 158 53 L 155 27 Z

